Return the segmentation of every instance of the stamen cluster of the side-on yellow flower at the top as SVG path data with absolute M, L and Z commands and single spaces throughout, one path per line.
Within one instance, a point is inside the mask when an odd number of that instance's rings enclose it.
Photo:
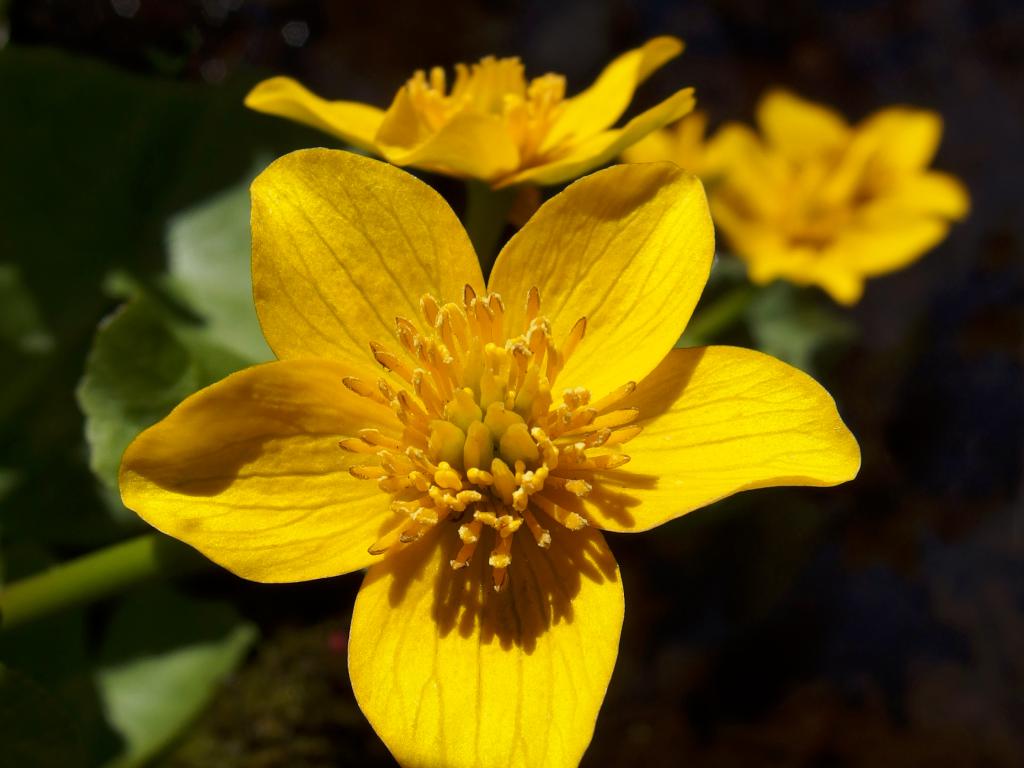
M 565 78 L 543 75 L 526 82 L 518 58 L 486 56 L 478 63 L 459 63 L 447 90 L 444 70 L 429 76 L 420 70 L 406 84 L 410 101 L 430 132 L 440 130 L 460 113 L 495 115 L 505 121 L 519 147 L 520 165 L 540 161 L 554 147 L 544 146 L 551 126 L 563 110 Z

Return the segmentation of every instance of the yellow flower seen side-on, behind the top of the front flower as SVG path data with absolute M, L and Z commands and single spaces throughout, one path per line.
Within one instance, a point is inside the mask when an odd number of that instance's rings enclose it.
M 495 187 L 557 184 L 607 163 L 693 109 L 693 89 L 684 88 L 611 128 L 637 86 L 682 50 L 674 37 L 654 38 L 618 56 L 590 88 L 569 98 L 561 75 L 527 82 L 518 58 L 487 56 L 456 66 L 451 87 L 439 67 L 417 72 L 387 111 L 327 101 L 284 77 L 257 85 L 246 104 L 325 130 L 394 165 Z

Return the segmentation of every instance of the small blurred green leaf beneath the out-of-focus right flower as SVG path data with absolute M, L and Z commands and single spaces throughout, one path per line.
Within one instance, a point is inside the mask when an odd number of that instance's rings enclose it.
M 758 349 L 812 374 L 824 352 L 842 349 L 857 334 L 839 309 L 781 281 L 758 292 L 746 308 L 746 325 Z

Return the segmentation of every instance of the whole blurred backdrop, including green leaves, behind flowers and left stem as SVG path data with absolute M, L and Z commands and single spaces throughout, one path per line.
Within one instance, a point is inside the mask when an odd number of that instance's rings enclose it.
M 583 765 L 1024 765 L 1015 0 L 0 0 L 3 578 L 144 531 L 113 490 L 120 447 L 267 356 L 239 319 L 246 183 L 334 144 L 246 111 L 249 87 L 287 74 L 383 106 L 417 68 L 495 53 L 574 92 L 660 34 L 687 49 L 637 108 L 693 85 L 713 126 L 750 122 L 780 84 L 851 120 L 936 110 L 935 167 L 973 209 L 852 310 L 818 296 L 767 341 L 732 332 L 822 381 L 863 469 L 610 537 L 627 618 Z M 357 575 L 182 570 L 0 636 L 0 765 L 393 765 L 345 669 Z

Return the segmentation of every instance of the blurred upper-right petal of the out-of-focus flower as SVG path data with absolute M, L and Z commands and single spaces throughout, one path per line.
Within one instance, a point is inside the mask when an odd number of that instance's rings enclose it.
M 932 162 L 942 139 L 942 118 L 928 110 L 890 106 L 858 126 L 873 139 L 874 162 L 885 170 L 915 171 Z

